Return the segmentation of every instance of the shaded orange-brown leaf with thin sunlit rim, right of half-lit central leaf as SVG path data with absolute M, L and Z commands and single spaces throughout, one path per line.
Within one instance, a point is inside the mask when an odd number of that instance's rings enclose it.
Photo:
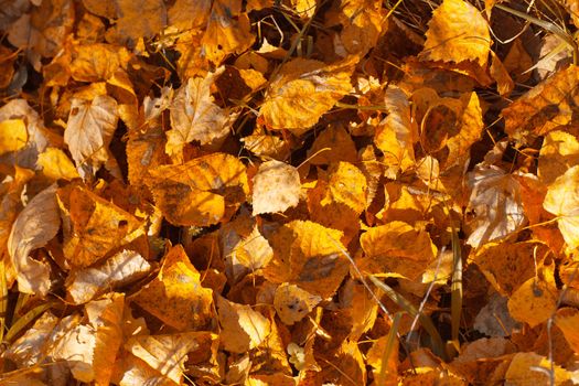
M 403 222 L 369 228 L 360 237 L 365 256 L 356 262 L 362 271 L 416 280 L 437 255 L 426 230 Z

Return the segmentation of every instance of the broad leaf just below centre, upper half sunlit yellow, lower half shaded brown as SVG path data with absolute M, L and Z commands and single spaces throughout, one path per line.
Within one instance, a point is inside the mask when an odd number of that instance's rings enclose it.
M 268 237 L 274 258 L 264 268 L 264 276 L 276 283 L 298 285 L 325 299 L 335 292 L 350 267 L 341 237 L 341 232 L 312 222 L 285 224 Z

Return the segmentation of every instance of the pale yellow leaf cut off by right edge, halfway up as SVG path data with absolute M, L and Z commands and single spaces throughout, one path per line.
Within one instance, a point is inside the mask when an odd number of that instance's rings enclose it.
M 543 207 L 557 216 L 559 230 L 571 249 L 579 246 L 579 165 L 568 169 L 547 190 Z

